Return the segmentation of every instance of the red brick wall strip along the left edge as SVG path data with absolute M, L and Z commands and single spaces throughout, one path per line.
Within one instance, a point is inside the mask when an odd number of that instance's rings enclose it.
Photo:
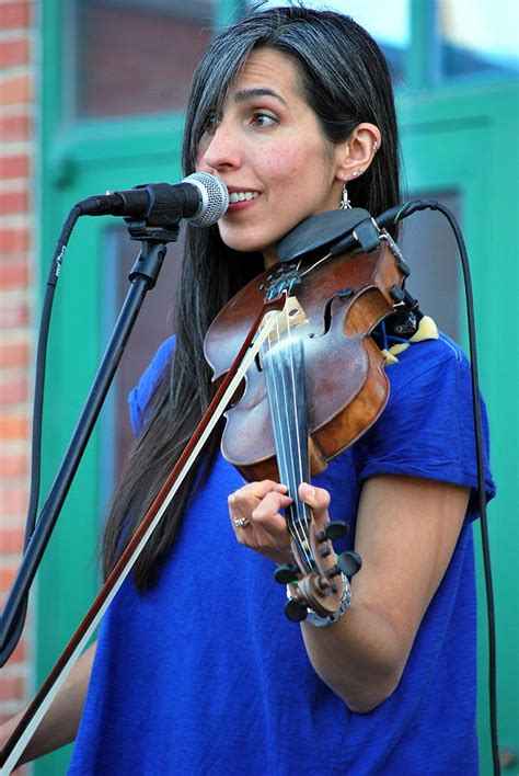
M 0 601 L 23 543 L 34 315 L 35 2 L 0 0 Z M 0 672 L 0 720 L 28 698 L 31 617 Z

